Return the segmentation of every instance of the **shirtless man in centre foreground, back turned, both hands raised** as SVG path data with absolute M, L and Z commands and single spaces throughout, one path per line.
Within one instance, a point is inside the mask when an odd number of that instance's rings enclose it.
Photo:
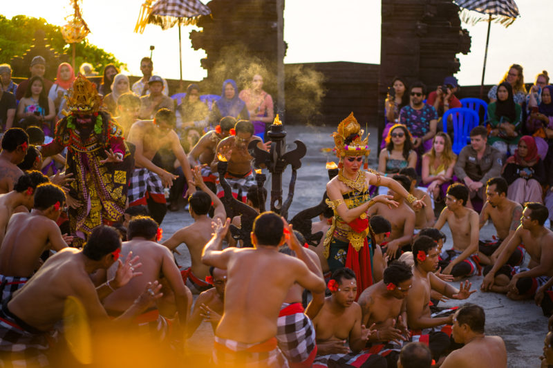
M 282 367 L 285 360 L 275 336 L 286 294 L 294 282 L 323 293 L 324 280 L 315 273 L 317 266 L 303 251 L 292 226 L 276 213 L 265 212 L 256 218 L 253 249 L 230 247 L 221 251 L 229 224 L 230 219 L 225 224 L 221 220 L 214 223 L 213 238 L 202 255 L 202 262 L 228 273 L 225 314 L 215 333 L 214 363 L 222 367 Z M 297 258 L 279 253 L 278 247 L 284 242 Z

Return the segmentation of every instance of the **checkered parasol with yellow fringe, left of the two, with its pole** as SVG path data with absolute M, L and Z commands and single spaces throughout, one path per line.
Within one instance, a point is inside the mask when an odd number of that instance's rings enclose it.
M 178 25 L 178 53 L 180 61 L 180 81 L 182 81 L 182 50 L 180 44 L 180 26 L 195 25 L 199 17 L 209 15 L 212 11 L 199 0 L 146 0 L 140 7 L 140 15 L 134 31 L 143 33 L 148 23 L 168 30 Z

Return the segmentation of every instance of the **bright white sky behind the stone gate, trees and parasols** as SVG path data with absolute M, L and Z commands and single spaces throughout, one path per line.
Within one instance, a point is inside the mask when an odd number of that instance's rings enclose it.
M 240 0 L 235 0 L 240 1 Z M 140 59 L 153 51 L 154 72 L 179 78 L 178 30 L 163 31 L 148 25 L 144 34 L 133 33 L 143 0 L 82 0 L 82 14 L 92 33 L 88 41 L 113 53 L 128 66 L 132 75 L 141 75 Z M 208 0 L 202 0 L 208 3 Z M 548 17 L 552 0 L 516 0 L 521 12 L 512 26 L 492 23 L 485 83 L 497 83 L 512 63 L 524 67 L 525 81 L 534 81 L 538 72 L 553 72 L 553 32 Z M 2 1 L 0 14 L 43 17 L 63 25 L 71 12 L 68 0 Z M 461 85 L 480 84 L 487 23 L 463 24 L 472 37 L 469 55 L 458 55 Z M 200 80 L 207 75 L 200 66 L 203 50 L 191 48 L 189 31 L 182 28 L 182 77 Z M 2 37 L 2 35 L 0 35 Z M 284 39 L 288 43 L 285 63 L 315 61 L 380 62 L 380 1 L 377 0 L 288 0 L 285 1 Z M 101 70 L 100 70 L 101 72 Z

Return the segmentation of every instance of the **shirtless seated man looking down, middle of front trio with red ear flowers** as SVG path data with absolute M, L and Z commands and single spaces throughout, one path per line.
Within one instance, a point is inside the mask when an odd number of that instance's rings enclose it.
M 375 325 L 367 341 L 373 354 L 386 358 L 388 368 L 396 366 L 402 342 L 409 338 L 406 296 L 413 283 L 411 267 L 392 261 L 384 270 L 384 280 L 371 285 L 359 296 L 362 325 Z

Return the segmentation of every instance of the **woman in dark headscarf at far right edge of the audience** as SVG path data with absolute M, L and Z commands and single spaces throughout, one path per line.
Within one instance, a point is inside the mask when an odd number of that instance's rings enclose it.
M 532 134 L 538 146 L 538 154 L 545 159 L 549 144 L 553 139 L 553 86 L 544 86 L 541 90 L 541 102 L 532 106 L 526 120 L 526 130 Z

